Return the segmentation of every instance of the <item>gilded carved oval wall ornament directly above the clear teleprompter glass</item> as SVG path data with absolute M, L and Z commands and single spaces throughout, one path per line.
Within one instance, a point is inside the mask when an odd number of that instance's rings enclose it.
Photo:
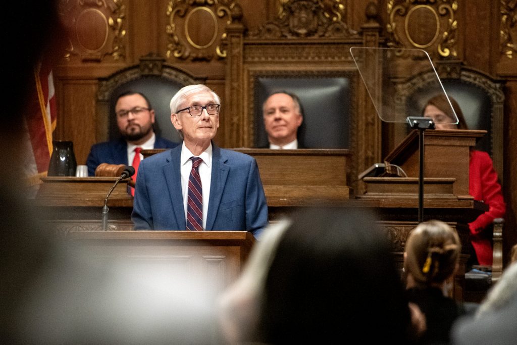
M 387 9 L 388 47 L 423 49 L 438 58 L 457 56 L 457 0 L 390 0 Z

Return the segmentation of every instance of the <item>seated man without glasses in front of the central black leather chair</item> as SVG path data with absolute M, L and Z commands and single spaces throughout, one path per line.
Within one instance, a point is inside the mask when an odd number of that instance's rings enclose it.
M 301 148 L 298 145 L 297 132 L 303 122 L 303 111 L 295 94 L 282 91 L 269 95 L 262 111 L 269 141 L 269 147 L 263 148 Z

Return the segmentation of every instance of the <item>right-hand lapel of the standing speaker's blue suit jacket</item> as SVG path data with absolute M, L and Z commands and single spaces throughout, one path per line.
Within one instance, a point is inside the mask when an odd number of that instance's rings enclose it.
M 208 215 L 206 230 L 212 230 L 217 217 L 219 203 L 226 184 L 226 178 L 230 167 L 226 165 L 226 157 L 223 157 L 221 149 L 212 143 L 212 177 L 210 182 L 210 197 L 208 199 Z

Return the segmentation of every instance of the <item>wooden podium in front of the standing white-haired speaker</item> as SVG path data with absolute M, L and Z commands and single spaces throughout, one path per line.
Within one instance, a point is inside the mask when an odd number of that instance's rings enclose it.
M 164 267 L 183 279 L 202 277 L 214 293 L 237 278 L 255 242 L 247 231 L 72 231 L 66 239 L 93 259 Z

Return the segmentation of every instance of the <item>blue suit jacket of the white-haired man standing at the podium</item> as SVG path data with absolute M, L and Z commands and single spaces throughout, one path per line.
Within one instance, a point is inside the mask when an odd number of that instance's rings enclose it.
M 181 146 L 142 160 L 136 179 L 135 230 L 186 230 L 181 194 Z M 267 203 L 256 160 L 212 144 L 206 230 L 251 231 L 267 226 Z

